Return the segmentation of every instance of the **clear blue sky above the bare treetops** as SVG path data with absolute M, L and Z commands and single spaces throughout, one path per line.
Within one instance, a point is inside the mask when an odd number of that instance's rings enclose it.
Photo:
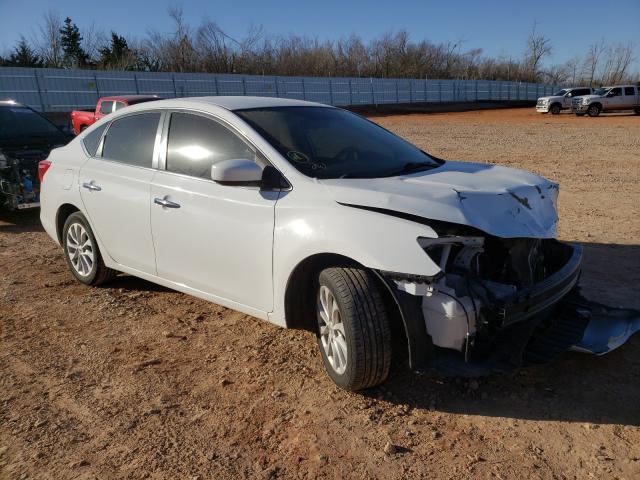
M 149 29 L 170 32 L 170 6 L 181 6 L 189 24 L 215 21 L 233 37 L 249 25 L 268 33 L 308 35 L 321 40 L 356 33 L 367 41 L 377 35 L 407 30 L 414 41 L 463 41 L 463 50 L 482 48 L 488 56 L 520 57 L 534 23 L 551 39 L 547 65 L 584 56 L 592 43 L 633 42 L 640 70 L 640 0 L 0 0 L 0 52 L 20 35 L 37 32 L 42 15 L 54 8 L 80 28 L 94 25 L 106 33 L 143 37 Z

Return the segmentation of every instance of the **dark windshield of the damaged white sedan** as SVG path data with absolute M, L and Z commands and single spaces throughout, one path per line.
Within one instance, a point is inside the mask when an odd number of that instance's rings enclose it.
M 375 123 L 338 108 L 271 107 L 235 113 L 313 178 L 390 177 L 442 164 Z

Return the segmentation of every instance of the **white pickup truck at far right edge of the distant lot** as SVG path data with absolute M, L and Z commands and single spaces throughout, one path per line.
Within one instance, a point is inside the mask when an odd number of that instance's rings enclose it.
M 571 111 L 582 116 L 597 117 L 601 112 L 633 110 L 640 115 L 640 87 L 634 85 L 614 85 L 598 88 L 593 95 L 574 97 Z

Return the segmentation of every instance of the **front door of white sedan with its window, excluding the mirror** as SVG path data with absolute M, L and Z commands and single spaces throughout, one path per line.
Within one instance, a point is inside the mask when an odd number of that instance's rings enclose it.
M 160 157 L 165 168 L 158 170 L 151 185 L 158 276 L 260 312 L 271 311 L 279 191 L 211 180 L 216 162 L 245 158 L 264 166 L 264 157 L 229 125 L 210 116 L 173 112 L 167 120 L 166 150 Z M 169 206 L 162 205 L 166 202 Z

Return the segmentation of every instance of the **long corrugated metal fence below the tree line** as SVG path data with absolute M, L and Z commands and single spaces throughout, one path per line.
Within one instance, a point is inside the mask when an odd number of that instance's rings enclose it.
M 282 77 L 212 73 L 0 68 L 0 99 L 44 112 L 93 108 L 99 97 L 256 95 L 331 105 L 536 100 L 557 87 L 489 80 Z

